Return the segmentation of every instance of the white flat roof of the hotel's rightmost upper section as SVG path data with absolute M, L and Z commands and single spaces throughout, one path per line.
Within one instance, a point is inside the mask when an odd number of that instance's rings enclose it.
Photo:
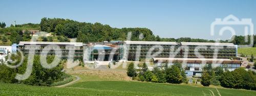
M 181 45 L 234 46 L 233 43 L 203 43 L 203 42 L 181 42 Z

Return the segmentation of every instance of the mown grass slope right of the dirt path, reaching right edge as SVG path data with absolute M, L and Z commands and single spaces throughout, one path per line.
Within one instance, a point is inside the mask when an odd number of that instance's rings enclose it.
M 210 90 L 218 95 L 215 88 L 194 87 L 187 85 L 167 84 L 167 83 L 150 83 L 134 81 L 87 81 L 79 82 L 68 86 L 69 88 L 85 88 L 126 92 L 143 92 L 168 95 L 203 95 L 203 92 L 210 95 Z M 221 95 L 255 95 L 256 91 L 242 89 L 218 89 Z M 138 94 L 140 95 L 140 94 Z

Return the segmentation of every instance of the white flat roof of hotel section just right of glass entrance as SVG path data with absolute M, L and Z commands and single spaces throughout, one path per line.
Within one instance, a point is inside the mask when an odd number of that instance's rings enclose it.
M 124 41 L 126 44 L 141 44 L 141 45 L 178 45 L 177 42 L 157 42 L 157 41 Z

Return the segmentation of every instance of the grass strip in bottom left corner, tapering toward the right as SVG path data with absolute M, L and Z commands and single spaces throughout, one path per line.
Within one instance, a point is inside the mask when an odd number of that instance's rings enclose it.
M 0 83 L 0 95 L 154 95 L 153 93 L 79 88 L 54 88 Z M 166 94 L 165 94 L 166 95 Z

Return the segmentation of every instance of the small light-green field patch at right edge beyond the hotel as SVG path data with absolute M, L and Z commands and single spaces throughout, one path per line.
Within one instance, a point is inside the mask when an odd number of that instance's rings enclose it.
M 251 56 L 251 54 L 256 56 L 256 47 L 238 48 L 238 54 L 241 54 L 241 53 L 243 53 L 247 56 Z

